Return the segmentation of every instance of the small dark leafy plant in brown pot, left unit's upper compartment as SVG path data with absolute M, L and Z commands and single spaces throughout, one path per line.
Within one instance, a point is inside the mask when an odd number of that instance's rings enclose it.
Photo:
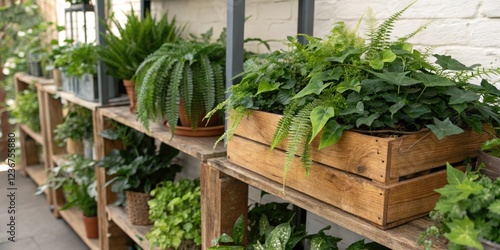
M 70 105 L 63 122 L 54 129 L 54 141 L 66 145 L 68 154 L 80 154 L 92 159 L 92 112 L 78 105 Z

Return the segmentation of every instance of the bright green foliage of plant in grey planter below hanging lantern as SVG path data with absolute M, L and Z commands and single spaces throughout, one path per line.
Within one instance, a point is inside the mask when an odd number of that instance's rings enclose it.
M 81 77 L 97 73 L 97 47 L 90 43 L 76 43 L 64 49 L 54 65 L 67 76 Z

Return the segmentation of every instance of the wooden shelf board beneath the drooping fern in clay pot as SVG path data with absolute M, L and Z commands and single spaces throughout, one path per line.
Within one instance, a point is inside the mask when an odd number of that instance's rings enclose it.
M 172 134 L 164 125 L 152 122 L 150 124 L 150 131 L 147 131 L 142 123 L 137 120 L 137 116 L 130 113 L 128 106 L 102 108 L 100 111 L 104 117 L 108 117 L 140 132 L 146 133 L 201 161 L 226 155 L 226 149 L 222 142 L 219 143 L 215 149 L 213 148 L 219 136 L 187 137 L 176 135 L 171 139 Z

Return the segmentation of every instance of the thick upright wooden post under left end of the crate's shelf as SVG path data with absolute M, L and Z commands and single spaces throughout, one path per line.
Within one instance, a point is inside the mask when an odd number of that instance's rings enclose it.
M 232 234 L 234 222 L 240 215 L 246 220 L 248 185 L 206 163 L 200 167 L 200 182 L 202 248 L 207 249 L 222 233 Z

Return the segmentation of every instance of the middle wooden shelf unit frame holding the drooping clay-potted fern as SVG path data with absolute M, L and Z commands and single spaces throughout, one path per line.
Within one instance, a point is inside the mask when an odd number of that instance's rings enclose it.
M 172 134 L 169 132 L 168 128 L 160 123 L 151 123 L 150 130 L 148 131 L 139 121 L 137 121 L 136 115 L 130 113 L 128 106 L 99 108 L 97 113 L 94 127 L 94 147 L 95 152 L 97 153 L 97 159 L 102 159 L 109 151 L 118 146 L 115 142 L 99 136 L 102 131 L 111 126 L 109 119 L 145 133 L 158 141 L 168 144 L 185 154 L 199 159 L 201 162 L 200 172 L 202 172 L 204 168 L 208 167 L 206 164 L 208 159 L 226 156 L 226 150 L 222 143 L 215 148 L 213 147 L 215 141 L 218 139 L 218 136 L 186 137 L 176 135 L 172 138 Z M 111 205 L 116 200 L 116 194 L 111 192 L 110 186 L 105 187 L 105 183 L 110 179 L 110 177 L 106 175 L 105 169 L 99 168 L 97 175 L 97 187 L 100 204 L 99 215 L 101 216 L 100 220 L 102 222 L 100 229 L 101 235 L 110 235 L 107 238 L 101 238 L 101 249 L 126 249 L 130 240 L 133 240 L 144 249 L 149 249 L 150 246 L 145 239 L 145 234 L 149 231 L 151 226 L 138 226 L 131 224 L 123 208 Z M 244 206 L 247 206 L 246 201 Z M 107 216 L 103 217 L 104 214 L 107 214 Z M 235 216 L 234 219 L 238 216 Z M 109 218 L 109 220 L 106 218 Z M 205 217 L 202 217 L 202 223 L 204 223 L 204 220 Z M 208 238 L 204 235 L 212 232 L 216 232 L 216 230 L 209 229 L 208 231 L 202 232 L 202 238 Z M 211 239 L 212 238 L 210 237 L 210 241 Z

